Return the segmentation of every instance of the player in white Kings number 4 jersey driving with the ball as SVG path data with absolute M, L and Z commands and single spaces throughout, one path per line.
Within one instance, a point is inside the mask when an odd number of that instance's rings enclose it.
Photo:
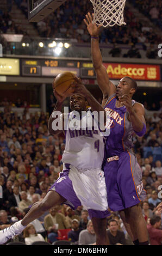
M 66 127 L 66 146 L 63 154 L 64 170 L 60 173 L 58 180 L 49 189 L 46 197 L 41 202 L 33 204 L 28 214 L 21 221 L 16 222 L 11 227 L 0 231 L 0 244 L 7 242 L 8 239 L 18 235 L 33 220 L 40 217 L 45 211 L 55 205 L 65 203 L 72 209 L 83 205 L 88 209 L 89 215 L 94 221 L 94 229 L 100 222 L 100 229 L 96 233 L 96 244 L 107 245 L 107 234 L 105 227 L 106 216 L 109 215 L 105 179 L 101 170 L 104 156 L 104 140 L 100 130 L 89 129 L 89 119 L 92 111 L 103 111 L 102 106 L 84 87 L 79 78 L 76 78 L 74 84 L 74 93 L 70 97 L 70 114 L 61 114 L 63 127 Z M 57 98 L 56 107 L 49 118 L 48 129 L 50 134 L 60 131 L 54 131 L 53 118 L 55 111 L 61 111 L 64 96 L 59 96 L 54 92 Z M 84 97 L 86 95 L 86 99 Z M 88 108 L 88 102 L 91 110 Z M 74 119 L 74 111 L 80 114 L 84 111 L 82 121 L 86 124 L 86 129 L 73 130 L 68 129 L 67 125 Z M 104 112 L 105 113 L 105 112 Z M 87 120 L 87 121 L 86 121 Z M 94 126 L 98 123 L 94 120 Z M 96 219 L 97 217 L 97 219 Z

